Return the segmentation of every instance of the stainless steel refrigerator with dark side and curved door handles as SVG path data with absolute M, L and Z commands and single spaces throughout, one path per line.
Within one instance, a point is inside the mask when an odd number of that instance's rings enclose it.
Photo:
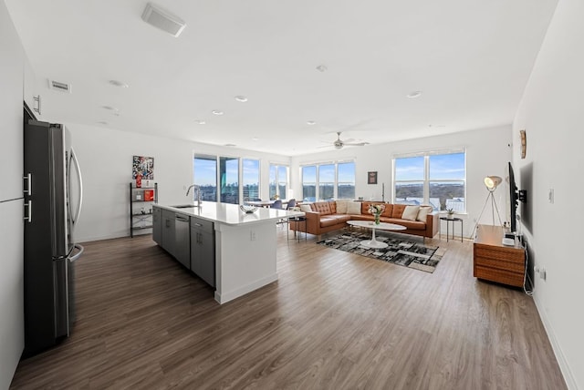
M 74 230 L 83 186 L 68 129 L 25 120 L 25 352 L 67 337 L 75 322 Z

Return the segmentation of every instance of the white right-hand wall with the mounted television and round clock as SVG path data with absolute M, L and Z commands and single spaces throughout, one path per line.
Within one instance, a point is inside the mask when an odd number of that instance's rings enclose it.
M 545 268 L 536 276 L 535 301 L 570 389 L 584 388 L 584 319 L 580 291 L 584 260 L 579 248 L 584 193 L 584 3 L 560 0 L 537 56 L 513 125 L 522 210 L 531 260 Z M 519 129 L 527 131 L 527 158 L 518 152 Z M 518 172 L 518 173 L 517 173 Z M 547 200 L 554 189 L 555 200 Z

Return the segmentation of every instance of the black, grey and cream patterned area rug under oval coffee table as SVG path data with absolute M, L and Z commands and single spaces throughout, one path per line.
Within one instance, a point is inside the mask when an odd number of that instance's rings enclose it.
M 360 245 L 360 241 L 370 240 L 371 233 L 345 231 L 317 243 L 340 251 L 349 251 L 361 256 L 371 257 L 383 262 L 392 262 L 415 270 L 434 272 L 438 262 L 443 258 L 445 249 L 425 245 L 422 242 L 409 241 L 398 235 L 385 235 L 376 232 L 377 241 L 388 244 L 384 249 L 370 249 Z

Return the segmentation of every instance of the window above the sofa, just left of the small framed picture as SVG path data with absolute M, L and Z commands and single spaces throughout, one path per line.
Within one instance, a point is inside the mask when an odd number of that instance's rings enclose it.
M 355 198 L 354 161 L 306 165 L 301 173 L 305 201 Z

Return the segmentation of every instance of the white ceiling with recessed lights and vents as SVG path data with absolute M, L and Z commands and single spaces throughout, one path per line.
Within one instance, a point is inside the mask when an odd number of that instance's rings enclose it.
M 72 85 L 41 91 L 44 118 L 295 156 L 339 130 L 376 144 L 511 123 L 557 0 L 155 1 L 186 22 L 176 38 L 144 0 L 5 3 L 43 86 Z

